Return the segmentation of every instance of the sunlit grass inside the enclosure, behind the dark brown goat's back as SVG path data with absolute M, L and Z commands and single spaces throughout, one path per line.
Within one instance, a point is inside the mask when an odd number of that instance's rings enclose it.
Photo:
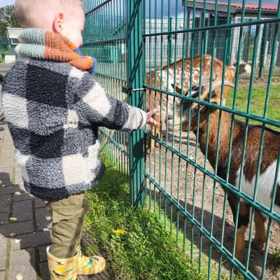
M 269 94 L 269 102 L 267 108 L 267 118 L 273 120 L 280 120 L 280 99 L 279 99 L 280 85 L 272 85 Z M 251 108 L 250 112 L 254 115 L 263 116 L 265 110 L 265 98 L 267 94 L 267 88 L 253 88 Z M 232 108 L 233 104 L 233 90 L 230 90 L 226 102 L 227 106 Z M 237 101 L 236 109 L 239 111 L 247 111 L 248 106 L 248 87 L 242 87 L 237 90 Z M 240 116 L 235 116 L 238 120 L 245 121 L 245 118 Z M 261 125 L 255 120 L 249 120 L 249 123 L 253 125 Z M 280 131 L 280 127 L 275 127 L 272 125 L 267 125 L 267 127 L 272 128 L 272 130 Z

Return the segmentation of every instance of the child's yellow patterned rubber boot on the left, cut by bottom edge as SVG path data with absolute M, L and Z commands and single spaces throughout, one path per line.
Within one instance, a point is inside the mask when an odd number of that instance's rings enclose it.
M 55 258 L 50 254 L 50 246 L 47 248 L 48 269 L 50 270 L 50 279 L 76 280 L 78 268 L 78 251 L 72 258 Z

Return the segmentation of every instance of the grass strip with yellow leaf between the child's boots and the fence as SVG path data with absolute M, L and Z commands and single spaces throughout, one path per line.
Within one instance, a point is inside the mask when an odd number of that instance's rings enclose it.
M 86 192 L 92 211 L 85 218 L 85 230 L 95 242 L 85 253 L 102 251 L 116 279 L 207 279 L 208 262 L 199 273 L 198 265 L 191 265 L 188 254 L 146 205 L 131 206 L 127 181 L 104 154 L 102 160 L 106 175 Z

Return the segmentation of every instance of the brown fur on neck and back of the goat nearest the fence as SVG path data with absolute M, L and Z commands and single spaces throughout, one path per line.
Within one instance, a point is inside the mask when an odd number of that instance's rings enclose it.
M 200 118 L 204 118 L 200 114 Z M 218 141 L 218 118 L 217 113 L 212 113 L 209 123 L 209 141 L 208 141 L 208 159 L 212 166 L 215 166 L 216 162 L 216 144 Z M 218 153 L 218 165 L 219 168 L 226 168 L 228 164 L 228 149 L 230 146 L 230 125 L 231 125 L 231 115 L 222 111 L 221 113 L 221 132 L 220 132 L 220 142 L 219 142 L 219 153 Z M 197 120 L 194 118 L 192 120 L 193 130 L 196 130 Z M 233 144 L 231 151 L 230 160 L 230 176 L 229 182 L 235 185 L 235 172 L 241 165 L 241 158 L 237 157 L 242 151 L 243 139 L 244 139 L 244 127 L 243 123 L 235 120 L 233 130 Z M 207 132 L 207 119 L 200 123 L 200 148 L 203 153 L 206 150 L 206 132 Z M 249 126 L 247 141 L 246 141 L 246 152 L 244 161 L 244 176 L 246 181 L 251 182 L 253 176 L 257 172 L 258 167 L 258 153 L 260 151 L 260 137 L 261 137 L 261 127 Z M 273 143 L 273 145 L 272 145 Z M 265 130 L 265 138 L 262 148 L 262 160 L 260 164 L 260 174 L 265 172 L 267 167 L 277 158 L 278 148 L 280 145 L 279 134 L 275 134 L 270 130 Z

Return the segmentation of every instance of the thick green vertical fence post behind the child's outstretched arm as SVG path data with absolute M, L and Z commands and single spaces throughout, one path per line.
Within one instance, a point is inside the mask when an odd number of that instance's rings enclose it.
M 125 0 L 127 42 L 127 85 L 134 89 L 143 87 L 143 42 L 142 42 L 142 0 Z M 134 91 L 129 97 L 130 105 L 144 107 L 144 94 Z M 130 203 L 144 204 L 144 130 L 130 133 Z

